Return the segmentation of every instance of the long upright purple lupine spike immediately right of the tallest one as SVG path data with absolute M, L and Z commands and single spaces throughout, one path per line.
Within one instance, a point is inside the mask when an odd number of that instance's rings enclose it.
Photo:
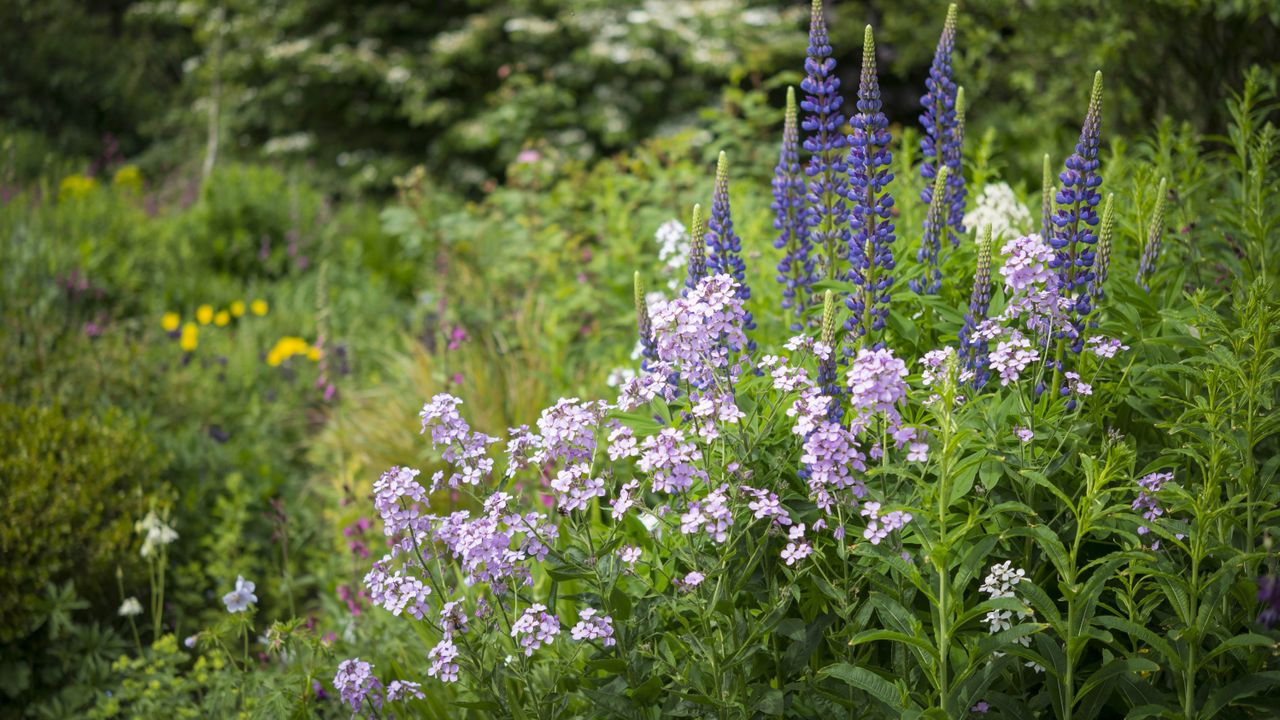
M 893 284 L 893 196 L 886 186 L 890 172 L 888 120 L 881 111 L 879 79 L 876 74 L 876 37 L 867 26 L 863 40 L 863 73 L 858 86 L 858 113 L 849 136 L 849 200 L 852 204 L 852 238 L 849 243 L 849 279 L 858 290 L 845 304 L 852 311 L 845 328 L 867 338 L 888 319 L 888 291 Z M 867 343 L 864 342 L 864 346 Z

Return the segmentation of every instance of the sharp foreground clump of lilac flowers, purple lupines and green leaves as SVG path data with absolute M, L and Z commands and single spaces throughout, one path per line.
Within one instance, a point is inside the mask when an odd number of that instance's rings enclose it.
M 1271 638 L 1206 619 L 1262 557 L 1216 524 L 1238 512 L 1252 536 L 1261 510 L 1212 460 L 1140 446 L 1151 421 L 1126 410 L 1143 328 L 1103 292 L 1117 254 L 1114 200 L 1094 210 L 1100 79 L 1061 186 L 1046 183 L 1043 232 L 1004 231 L 996 256 L 988 224 L 973 277 L 942 272 L 970 251 L 955 42 L 952 10 L 914 265 L 893 247 L 872 31 L 845 135 L 815 0 L 808 115 L 788 102 L 773 184 L 778 323 L 748 288 L 722 155 L 685 287 L 657 301 L 637 287 L 644 361 L 617 398 L 561 398 L 506 438 L 474 429 L 463 400 L 430 398 L 420 429 L 445 469 L 375 483 L 388 550 L 365 577 L 424 643 L 383 675 L 344 661 L 333 684 L 352 714 L 449 692 L 511 717 L 1094 717 L 1167 688 L 1161 707 L 1198 717 L 1276 684 L 1252 650 Z M 914 327 L 895 274 L 925 307 L 968 295 L 968 314 Z M 1206 688 L 1211 660 L 1242 682 Z

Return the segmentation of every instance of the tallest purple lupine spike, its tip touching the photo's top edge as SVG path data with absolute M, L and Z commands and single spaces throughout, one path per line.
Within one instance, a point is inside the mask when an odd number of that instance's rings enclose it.
M 831 56 L 822 0 L 813 0 L 804 69 L 805 78 L 800 83 L 804 92 L 800 109 L 804 110 L 804 117 L 800 127 L 805 133 L 804 149 L 809 152 L 809 164 L 805 167 L 805 177 L 809 178 L 805 225 L 809 228 L 810 245 L 822 252 L 818 258 L 822 277 L 838 279 L 845 274 L 841 259 L 849 245 L 849 206 L 845 202 L 849 184 L 849 170 L 845 167 L 847 140 L 841 129 L 845 126 L 845 115 L 840 111 L 844 100 L 840 97 L 836 59 Z

